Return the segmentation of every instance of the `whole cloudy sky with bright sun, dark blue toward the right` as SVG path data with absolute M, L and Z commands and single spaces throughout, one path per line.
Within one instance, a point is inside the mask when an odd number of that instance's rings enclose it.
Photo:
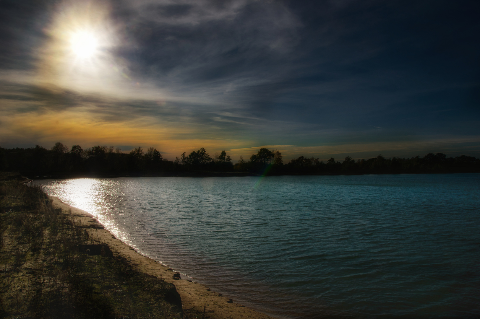
M 0 146 L 480 157 L 480 2 L 0 0 Z

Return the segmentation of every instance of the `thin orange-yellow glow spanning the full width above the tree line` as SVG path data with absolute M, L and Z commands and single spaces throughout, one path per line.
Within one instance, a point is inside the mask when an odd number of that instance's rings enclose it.
M 297 146 L 262 145 L 246 138 L 243 141 L 235 141 L 215 139 L 205 135 L 202 128 L 192 128 L 188 123 L 160 123 L 148 117 L 115 122 L 101 120 L 96 118 L 93 112 L 88 109 L 82 110 L 81 107 L 73 111 L 17 113 L 4 117 L 0 127 L 0 143 L 8 140 L 17 141 L 17 143 L 33 142 L 46 148 L 50 148 L 55 142 L 62 142 L 69 147 L 80 144 L 83 148 L 94 145 L 131 145 L 132 148 L 142 146 L 144 149 L 155 147 L 168 160 L 174 160 L 182 152 L 188 154 L 204 147 L 210 155 L 226 150 L 234 162 L 240 155 L 248 160 L 251 154 L 256 153 L 261 147 L 279 150 L 287 160 L 301 155 L 328 158 L 330 155 L 327 156 L 327 154 L 348 154 L 355 157 L 355 153 L 359 152 L 402 153 L 403 150 L 421 151 L 429 147 L 442 147 L 445 143 L 478 141 L 478 138 L 470 138 Z M 5 145 L 1 146 L 5 147 Z

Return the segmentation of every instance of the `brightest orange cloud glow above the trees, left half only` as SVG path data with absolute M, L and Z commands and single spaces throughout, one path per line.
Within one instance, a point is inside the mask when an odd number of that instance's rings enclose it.
M 204 147 L 213 154 L 217 150 L 232 146 L 241 146 L 240 142 L 209 139 L 199 136 L 200 133 L 187 125 L 165 125 L 152 121 L 151 118 L 135 118 L 132 120 L 108 122 L 96 119 L 88 111 L 46 112 L 43 114 L 17 114 L 10 116 L 3 123 L 0 134 L 17 139 L 31 140 L 36 136 L 37 142 L 46 148 L 55 142 L 62 142 L 69 147 L 80 144 L 83 148 L 94 145 L 132 145 L 155 147 L 170 160 L 182 152 Z M 179 135 L 192 138 L 183 139 Z M 195 138 L 197 137 L 197 138 Z M 43 145 L 42 145 L 43 143 Z

